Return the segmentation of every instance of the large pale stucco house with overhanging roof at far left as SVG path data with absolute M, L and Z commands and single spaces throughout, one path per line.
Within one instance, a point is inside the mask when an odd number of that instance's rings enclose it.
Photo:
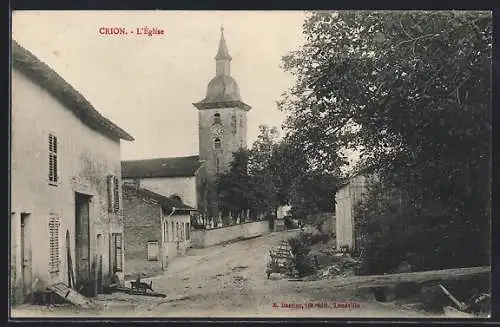
M 71 280 L 95 295 L 124 267 L 120 140 L 134 139 L 16 42 L 12 62 L 13 300 Z

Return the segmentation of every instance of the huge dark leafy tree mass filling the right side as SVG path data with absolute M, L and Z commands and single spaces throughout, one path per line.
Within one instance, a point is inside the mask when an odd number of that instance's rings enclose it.
M 373 191 L 359 210 L 374 261 L 488 261 L 491 29 L 485 12 L 320 12 L 284 58 L 297 78 L 279 103 L 287 138 L 323 171 L 357 149 L 401 195 L 402 209 Z

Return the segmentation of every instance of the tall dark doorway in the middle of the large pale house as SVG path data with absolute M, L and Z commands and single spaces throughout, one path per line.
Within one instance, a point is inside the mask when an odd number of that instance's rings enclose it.
M 75 193 L 75 277 L 76 290 L 91 296 L 90 263 L 90 199 L 85 194 Z

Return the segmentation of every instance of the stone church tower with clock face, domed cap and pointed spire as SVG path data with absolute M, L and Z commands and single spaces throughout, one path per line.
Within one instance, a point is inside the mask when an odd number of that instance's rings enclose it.
M 198 109 L 199 154 L 205 161 L 209 215 L 217 212 L 217 174 L 228 171 L 233 152 L 247 147 L 247 112 L 251 107 L 241 100 L 238 84 L 231 77 L 231 60 L 221 27 L 215 77 L 208 83 L 205 98 L 193 103 Z

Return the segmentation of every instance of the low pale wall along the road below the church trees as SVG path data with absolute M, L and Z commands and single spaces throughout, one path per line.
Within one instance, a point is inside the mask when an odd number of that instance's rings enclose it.
M 194 230 L 191 231 L 191 242 L 193 247 L 206 248 L 238 238 L 257 237 L 267 233 L 269 233 L 269 222 L 267 220 L 256 221 L 227 227 Z

